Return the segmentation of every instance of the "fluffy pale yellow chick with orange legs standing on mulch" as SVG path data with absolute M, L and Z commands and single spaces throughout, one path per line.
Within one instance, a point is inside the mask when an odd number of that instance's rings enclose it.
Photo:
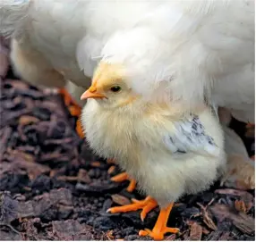
M 121 79 L 122 68 L 111 67 L 99 67 L 91 87 L 81 96 L 88 99 L 82 125 L 90 147 L 103 157 L 114 157 L 149 195 L 109 212 L 142 209 L 143 220 L 159 204 L 154 229 L 140 234 L 163 239 L 166 232 L 178 232 L 166 226 L 174 202 L 209 188 L 224 170 L 222 129 L 206 106 L 188 113 L 183 104 L 150 103 L 129 80 Z

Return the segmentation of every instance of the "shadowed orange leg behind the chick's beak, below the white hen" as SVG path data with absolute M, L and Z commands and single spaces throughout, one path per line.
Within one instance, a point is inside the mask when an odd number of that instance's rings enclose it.
M 67 106 L 71 115 L 77 117 L 78 120 L 76 121 L 76 132 L 80 138 L 84 138 L 80 121 L 81 106 L 73 100 L 73 97 L 64 88 L 60 89 L 59 93 L 64 97 L 64 104 Z

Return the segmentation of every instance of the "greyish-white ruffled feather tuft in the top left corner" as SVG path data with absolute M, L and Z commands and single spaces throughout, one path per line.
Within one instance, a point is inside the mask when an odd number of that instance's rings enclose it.
M 0 1 L 0 35 L 19 36 L 28 17 L 30 0 Z

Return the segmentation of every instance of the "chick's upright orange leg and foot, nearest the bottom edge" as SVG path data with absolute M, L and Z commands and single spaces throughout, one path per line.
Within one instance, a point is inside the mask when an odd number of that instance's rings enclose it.
M 163 240 L 166 233 L 178 233 L 179 229 L 167 227 L 167 221 L 169 214 L 173 208 L 174 203 L 169 204 L 166 208 L 162 208 L 158 215 L 158 221 L 156 222 L 154 228 L 144 229 L 139 232 L 140 236 L 150 236 L 155 240 Z

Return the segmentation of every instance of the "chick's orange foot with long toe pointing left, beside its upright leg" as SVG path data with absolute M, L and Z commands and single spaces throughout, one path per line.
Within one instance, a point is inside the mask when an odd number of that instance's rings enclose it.
M 147 214 L 154 209 L 156 206 L 158 206 L 158 203 L 155 199 L 151 198 L 150 196 L 147 196 L 144 200 L 136 200 L 132 199 L 133 204 L 128 204 L 124 206 L 115 206 L 111 207 L 107 210 L 109 213 L 126 213 L 131 211 L 137 211 L 139 209 L 142 209 L 141 211 L 141 221 L 144 221 Z

